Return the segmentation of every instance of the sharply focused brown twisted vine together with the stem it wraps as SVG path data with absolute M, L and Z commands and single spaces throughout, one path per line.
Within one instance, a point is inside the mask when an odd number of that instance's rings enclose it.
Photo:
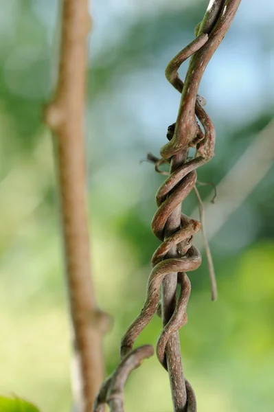
M 196 411 L 192 387 L 183 376 L 178 330 L 187 321 L 187 302 L 190 297 L 190 279 L 186 272 L 201 265 L 201 254 L 192 244 L 193 236 L 201 223 L 181 213 L 181 204 L 194 189 L 196 170 L 214 156 L 215 129 L 203 108 L 205 101 L 197 95 L 201 78 L 209 60 L 229 29 L 240 0 L 210 1 L 203 21 L 197 25 L 196 38 L 169 63 L 165 76 L 181 93 L 176 123 L 168 128 L 168 143 L 161 148 L 160 161 L 170 163 L 170 176 L 156 195 L 157 211 L 152 219 L 152 231 L 161 244 L 152 256 L 152 271 L 144 306 L 122 338 L 121 358 L 133 354 L 137 336 L 148 325 L 155 312 L 161 312 L 163 330 L 157 341 L 157 357 L 170 375 L 174 411 Z M 190 58 L 185 83 L 179 78 L 178 69 Z M 201 126 L 199 126 L 196 117 Z M 192 159 L 188 150 L 196 148 Z M 153 158 L 153 157 L 151 157 Z M 187 160 L 188 159 L 188 160 Z M 179 299 L 176 287 L 179 285 Z M 162 301 L 160 289 L 162 288 Z M 216 293 L 216 288 L 213 293 Z

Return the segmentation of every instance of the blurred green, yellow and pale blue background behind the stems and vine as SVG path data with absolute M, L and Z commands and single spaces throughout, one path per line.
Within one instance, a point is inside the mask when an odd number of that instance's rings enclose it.
M 150 257 L 158 245 L 150 221 L 163 176 L 139 161 L 147 152 L 158 155 L 176 119 L 180 96 L 164 69 L 194 38 L 207 1 L 92 3 L 89 211 L 98 304 L 115 321 L 104 339 L 110 373 L 118 362 L 119 339 L 144 301 Z M 56 80 L 58 1 L 1 0 L 0 5 L 0 393 L 32 400 L 43 412 L 67 412 L 69 321 L 52 137 L 41 120 Z M 205 201 L 211 216 L 207 229 L 216 227 L 210 243 L 219 299 L 210 301 L 204 259 L 190 273 L 188 323 L 180 332 L 185 375 L 203 412 L 273 411 L 274 150 L 262 132 L 274 113 L 273 19 L 273 1 L 243 0 L 200 88 L 217 142 L 216 157 L 198 171 L 199 179 L 218 185 L 237 165 L 221 201 L 210 207 Z M 261 174 L 264 178 L 256 179 Z M 247 186 L 250 194 L 242 201 L 237 194 Z M 210 187 L 201 187 L 201 195 L 210 198 Z M 222 214 L 229 205 L 233 213 Z M 184 211 L 194 216 L 195 209 L 196 199 L 189 196 Z M 198 237 L 196 243 L 201 244 Z M 155 344 L 160 330 L 161 322 L 153 319 L 137 343 Z M 156 358 L 130 377 L 126 410 L 172 410 L 168 375 Z

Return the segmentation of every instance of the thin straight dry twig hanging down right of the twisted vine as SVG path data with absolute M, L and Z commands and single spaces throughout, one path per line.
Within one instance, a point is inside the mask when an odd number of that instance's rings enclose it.
M 198 208 L 199 208 L 200 220 L 202 224 L 201 231 L 202 231 L 202 236 L 203 236 L 203 244 L 205 247 L 205 255 L 207 256 L 209 278 L 210 278 L 210 284 L 212 288 L 212 300 L 214 301 L 218 297 L 218 290 L 217 290 L 216 275 L 215 275 L 215 270 L 214 270 L 214 263 L 212 259 L 212 252 L 210 250 L 209 242 L 207 240 L 207 233 L 205 231 L 205 209 L 203 207 L 203 201 L 201 199 L 201 196 L 196 186 L 194 186 L 194 193 L 196 194 L 196 198 L 198 199 Z

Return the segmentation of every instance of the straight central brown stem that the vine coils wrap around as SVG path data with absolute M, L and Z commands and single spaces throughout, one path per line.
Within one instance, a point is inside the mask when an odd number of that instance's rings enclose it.
M 185 163 L 188 144 L 196 137 L 197 124 L 195 117 L 195 101 L 198 86 L 203 72 L 210 58 L 216 51 L 220 41 L 227 32 L 233 16 L 236 13 L 240 0 L 213 0 L 205 17 L 198 27 L 197 35 L 209 33 L 207 43 L 199 49 L 191 58 L 187 70 L 185 84 L 183 85 L 179 113 L 176 119 L 174 137 L 168 144 L 161 148 L 161 156 L 164 159 L 172 159 L 170 172 L 173 172 Z M 203 123 L 203 122 L 202 122 Z M 180 228 L 181 205 L 176 207 L 165 225 L 165 238 Z M 176 249 L 170 249 L 167 258 L 176 257 Z M 176 273 L 163 279 L 163 305 L 162 319 L 165 325 L 176 306 Z M 179 334 L 174 332 L 168 340 L 165 356 L 170 376 L 170 386 L 174 412 L 183 412 L 187 407 L 187 391 L 183 368 L 181 365 L 181 351 Z

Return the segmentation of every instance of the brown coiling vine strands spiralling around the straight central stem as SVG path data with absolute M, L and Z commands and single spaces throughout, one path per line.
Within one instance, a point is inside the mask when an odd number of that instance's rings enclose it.
M 186 60 L 191 54 L 196 52 L 197 47 L 201 47 L 207 40 L 206 36 L 200 36 L 198 38 L 198 46 L 193 47 L 194 42 L 191 43 L 191 47 L 187 46 L 182 52 L 176 56 L 176 65 L 171 62 L 169 67 L 172 67 L 177 71 L 183 61 Z M 168 77 L 168 68 L 166 75 Z M 176 89 L 183 91 L 183 82 L 177 75 L 172 72 L 172 79 L 168 78 L 170 82 L 176 83 Z M 171 234 L 171 236 L 165 237 L 165 225 L 168 218 L 173 214 L 177 207 L 180 207 L 181 203 L 190 194 L 195 186 L 197 174 L 196 169 L 201 165 L 204 165 L 212 159 L 214 156 L 214 144 L 215 144 L 215 129 L 209 119 L 207 113 L 201 103 L 204 101 L 197 96 L 196 103 L 194 102 L 194 111 L 200 120 L 204 132 L 196 122 L 194 117 L 194 135 L 192 140 L 187 141 L 187 147 L 181 147 L 187 154 L 187 150 L 190 147 L 196 148 L 196 156 L 186 163 L 183 163 L 179 168 L 176 168 L 168 179 L 161 185 L 156 195 L 157 211 L 152 219 L 152 231 L 161 240 L 161 244 L 152 256 L 152 271 L 148 279 L 148 287 L 146 300 L 144 306 L 141 309 L 139 316 L 130 325 L 121 343 L 121 356 L 125 356 L 133 348 L 133 344 L 137 339 L 137 336 L 148 325 L 155 312 L 159 312 L 159 298 L 160 288 L 163 279 L 170 273 L 177 273 L 177 284 L 180 286 L 179 299 L 176 302 L 176 308 L 172 314 L 172 317 L 168 323 L 164 326 L 159 339 L 157 341 L 157 357 L 163 367 L 168 370 L 165 359 L 165 347 L 168 343 L 168 339 L 171 334 L 179 330 L 187 321 L 186 307 L 190 297 L 190 279 L 187 277 L 186 272 L 194 271 L 201 265 L 201 253 L 192 244 L 192 239 L 195 233 L 201 229 L 201 223 L 197 220 L 181 214 L 181 222 L 179 227 Z M 174 133 L 176 130 L 176 124 L 172 124 L 168 127 L 167 137 L 170 144 L 163 146 L 161 153 L 168 153 L 170 159 L 177 153 L 177 149 L 172 146 L 174 139 Z M 176 247 L 176 255 L 172 258 L 167 258 L 170 250 Z M 187 383 L 187 385 L 189 385 Z M 188 386 L 190 390 L 190 385 Z

